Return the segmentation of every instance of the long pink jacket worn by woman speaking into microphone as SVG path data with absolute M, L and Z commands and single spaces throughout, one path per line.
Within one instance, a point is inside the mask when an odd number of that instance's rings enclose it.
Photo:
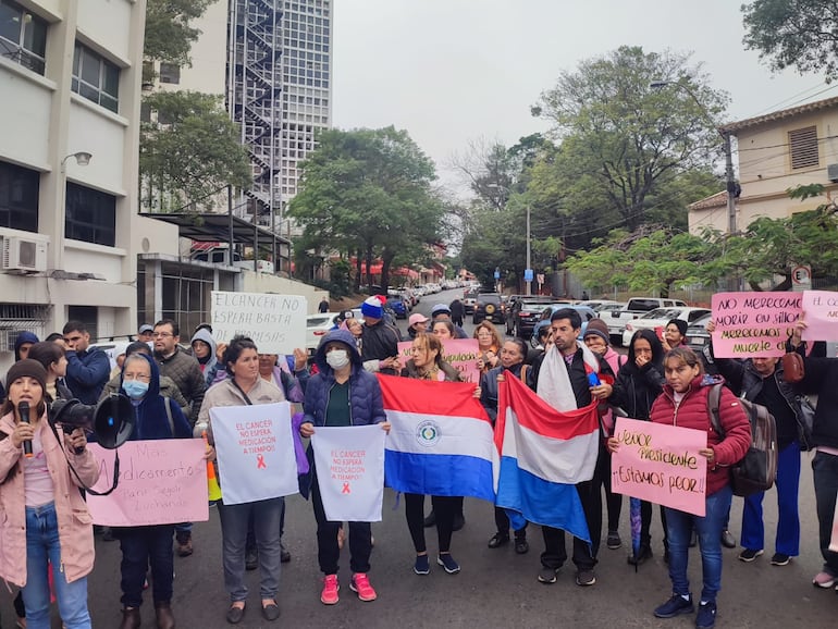
M 59 570 L 64 574 L 67 582 L 72 582 L 94 569 L 93 519 L 78 491 L 81 485 L 67 467 L 63 443 L 56 441 L 46 414 L 39 425 L 56 496 L 61 543 Z M 12 414 L 0 418 L 0 431 L 5 435 L 14 432 Z M 63 433 L 59 432 L 59 435 L 63 442 Z M 14 447 L 11 436 L 0 440 L 0 578 L 21 587 L 26 584 L 26 499 L 23 466 L 15 464 L 22 454 L 23 449 Z M 99 465 L 89 449 L 76 455 L 73 448 L 67 448 L 66 454 L 87 486 L 99 479 Z

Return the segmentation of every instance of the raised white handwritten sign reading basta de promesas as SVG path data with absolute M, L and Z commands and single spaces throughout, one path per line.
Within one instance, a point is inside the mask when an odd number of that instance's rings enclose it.
M 227 343 L 243 334 L 263 354 L 293 354 L 306 340 L 308 306 L 301 295 L 212 291 L 212 335 Z

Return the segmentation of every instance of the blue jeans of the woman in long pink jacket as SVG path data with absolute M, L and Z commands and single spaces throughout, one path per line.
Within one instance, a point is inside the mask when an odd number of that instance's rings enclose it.
M 90 629 L 87 612 L 87 577 L 66 582 L 61 570 L 61 543 L 58 536 L 56 505 L 26 507 L 26 585 L 23 603 L 29 629 L 50 629 L 49 564 L 61 619 L 67 629 Z

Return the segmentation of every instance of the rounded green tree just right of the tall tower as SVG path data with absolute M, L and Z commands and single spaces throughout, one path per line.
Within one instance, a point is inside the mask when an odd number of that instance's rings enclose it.
M 386 284 L 394 263 L 420 262 L 439 242 L 445 206 L 431 189 L 433 162 L 407 132 L 329 130 L 299 168 L 289 215 L 310 245 L 356 255 L 357 271 L 381 257 Z

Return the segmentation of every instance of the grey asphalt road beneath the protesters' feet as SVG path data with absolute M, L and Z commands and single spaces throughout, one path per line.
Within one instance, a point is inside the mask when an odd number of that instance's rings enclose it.
M 448 303 L 454 292 L 426 297 L 420 311 L 426 313 L 438 303 Z M 470 319 L 469 319 L 470 321 Z M 404 323 L 404 322 L 402 322 Z M 471 325 L 467 323 L 467 330 Z M 765 501 L 767 545 L 765 555 L 752 564 L 736 559 L 739 550 L 726 550 L 724 576 L 718 599 L 717 627 L 789 628 L 835 627 L 838 620 L 838 593 L 817 590 L 811 579 L 821 568 L 817 550 L 817 522 L 810 456 L 803 455 L 800 511 L 802 520 L 801 555 L 785 567 L 769 565 L 773 533 L 776 529 L 776 494 Z M 341 602 L 332 607 L 319 601 L 320 574 L 317 568 L 315 518 L 311 506 L 299 496 L 287 501 L 285 544 L 292 552 L 289 564 L 283 565 L 279 596 L 282 616 L 267 622 L 259 613 L 258 576 L 248 572 L 251 594 L 245 619 L 239 627 L 315 628 L 392 628 L 410 627 L 572 627 L 572 628 L 681 628 L 694 626 L 694 617 L 681 616 L 660 620 L 652 609 L 669 596 L 670 585 L 663 563 L 661 523 L 652 523 L 654 558 L 636 574 L 627 565 L 625 547 L 600 552 L 596 584 L 579 588 L 574 582 L 572 565 L 559 574 L 558 582 L 543 585 L 535 580 L 539 553 L 542 550 L 538 527 L 530 528 L 531 550 L 516 555 L 512 546 L 486 548 L 494 532 L 492 506 L 466 499 L 466 527 L 454 534 L 452 553 L 463 566 L 458 575 L 446 575 L 432 566 L 426 577 L 412 570 L 414 552 L 404 519 L 404 505 L 394 510 L 395 495 L 384 494 L 383 521 L 373 526 L 375 547 L 372 553 L 370 580 L 379 599 L 362 603 L 348 589 L 348 544 L 341 560 Z M 430 508 L 428 506 L 427 508 Z M 731 530 L 738 534 L 741 498 L 735 498 Z M 428 531 L 431 556 L 436 548 L 435 535 Z M 624 501 L 620 521 L 624 542 L 629 539 L 628 501 Z M 221 533 L 218 513 L 210 509 L 210 520 L 195 525 L 195 554 L 175 557 L 173 609 L 181 629 L 215 629 L 226 627 L 224 614 L 227 596 L 221 570 Z M 118 542 L 97 540 L 96 568 L 89 577 L 90 609 L 94 627 L 119 627 L 120 550 Z M 693 592 L 701 589 L 698 550 L 690 555 Z M 150 594 L 141 608 L 143 627 L 155 627 Z M 3 627 L 12 627 L 11 595 L 0 594 Z

